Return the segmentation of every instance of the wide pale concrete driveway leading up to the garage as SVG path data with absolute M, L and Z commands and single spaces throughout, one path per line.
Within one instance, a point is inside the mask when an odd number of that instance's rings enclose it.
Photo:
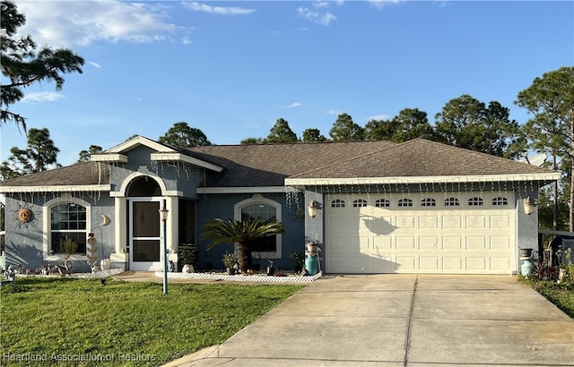
M 326 276 L 169 366 L 574 366 L 574 320 L 510 276 Z

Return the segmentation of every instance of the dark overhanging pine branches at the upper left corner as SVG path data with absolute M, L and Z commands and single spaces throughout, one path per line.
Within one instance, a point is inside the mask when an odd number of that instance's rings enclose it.
M 22 88 L 35 82 L 54 81 L 56 90 L 61 90 L 64 84 L 62 74 L 83 73 L 81 66 L 84 60 L 66 48 L 52 50 L 42 47 L 36 53 L 36 44 L 30 35 L 15 38 L 18 28 L 26 23 L 25 15 L 18 13 L 11 1 L 2 1 L 0 10 L 4 30 L 0 32 L 0 68 L 10 81 L 0 85 L 0 125 L 13 122 L 25 130 L 26 119 L 9 110 L 11 105 L 24 98 Z

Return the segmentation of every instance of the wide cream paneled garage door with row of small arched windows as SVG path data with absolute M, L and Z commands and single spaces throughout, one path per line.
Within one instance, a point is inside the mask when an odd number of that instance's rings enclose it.
M 512 192 L 326 195 L 327 273 L 510 274 Z

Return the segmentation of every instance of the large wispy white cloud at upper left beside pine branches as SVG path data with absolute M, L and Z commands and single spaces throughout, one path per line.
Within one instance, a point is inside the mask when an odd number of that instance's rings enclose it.
M 117 0 L 18 1 L 26 15 L 19 30 L 30 34 L 38 45 L 51 47 L 90 46 L 109 42 L 154 42 L 169 39 L 177 30 L 166 21 L 161 4 L 135 4 Z

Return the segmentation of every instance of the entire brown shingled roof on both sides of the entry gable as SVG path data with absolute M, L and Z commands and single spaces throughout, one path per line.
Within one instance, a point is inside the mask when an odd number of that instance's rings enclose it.
M 536 175 L 552 170 L 424 139 L 213 145 L 182 150 L 222 166 L 206 187 L 283 186 L 285 178 L 356 178 L 445 175 Z M 101 168 L 101 170 L 99 169 Z M 105 163 L 88 162 L 26 175 L 0 186 L 74 186 L 109 183 Z

